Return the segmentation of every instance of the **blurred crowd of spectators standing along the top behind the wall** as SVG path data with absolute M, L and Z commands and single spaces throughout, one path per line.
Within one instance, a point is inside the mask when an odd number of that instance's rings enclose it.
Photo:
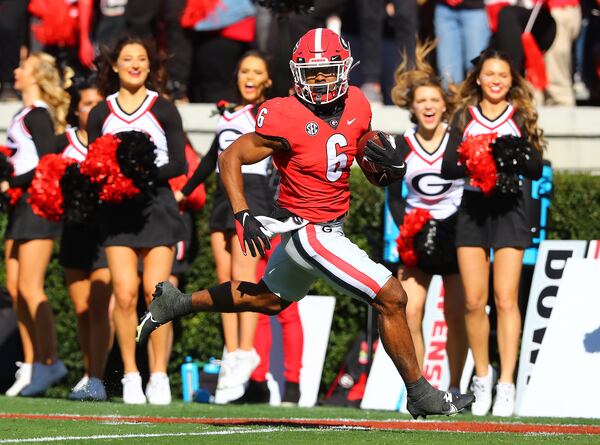
M 301 2 L 302 3 L 302 2 Z M 414 58 L 417 39 L 437 39 L 432 63 L 459 83 L 487 46 L 509 52 L 524 72 L 521 34 L 544 53 L 547 85 L 538 105 L 600 100 L 598 0 L 543 0 L 531 30 L 533 0 L 316 0 L 307 14 L 274 13 L 253 0 L 0 0 L 0 100 L 18 100 L 13 71 L 29 51 L 55 55 L 85 77 L 124 33 L 155 38 L 168 73 L 167 93 L 181 102 L 234 99 L 233 71 L 250 48 L 275 59 L 274 95 L 291 85 L 293 43 L 308 29 L 330 27 L 350 42 L 351 83 L 372 103 L 391 104 L 393 73 Z

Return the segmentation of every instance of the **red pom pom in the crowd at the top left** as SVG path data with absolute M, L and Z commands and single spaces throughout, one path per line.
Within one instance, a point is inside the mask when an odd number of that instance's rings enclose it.
M 31 29 L 44 45 L 75 46 L 77 43 L 78 9 L 65 0 L 31 0 L 29 12 L 40 18 Z

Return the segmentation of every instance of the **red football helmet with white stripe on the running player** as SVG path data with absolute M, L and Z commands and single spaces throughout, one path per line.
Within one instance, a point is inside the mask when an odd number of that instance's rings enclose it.
M 350 45 L 326 28 L 311 29 L 296 43 L 290 61 L 296 94 L 312 104 L 326 104 L 348 91 L 348 74 L 352 66 Z M 335 80 L 308 83 L 317 73 L 334 74 Z

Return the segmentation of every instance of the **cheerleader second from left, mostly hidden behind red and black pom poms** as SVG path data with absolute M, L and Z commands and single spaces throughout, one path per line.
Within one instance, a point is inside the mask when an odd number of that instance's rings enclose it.
M 81 82 L 72 98 L 78 126 L 57 137 L 66 158 L 82 162 L 87 154 L 87 121 L 91 109 L 103 99 L 95 85 Z M 69 395 L 71 400 L 106 400 L 102 383 L 111 343 L 108 317 L 111 285 L 99 227 L 93 221 L 64 224 L 60 239 L 60 265 L 77 316 L 77 337 L 83 355 L 84 375 Z

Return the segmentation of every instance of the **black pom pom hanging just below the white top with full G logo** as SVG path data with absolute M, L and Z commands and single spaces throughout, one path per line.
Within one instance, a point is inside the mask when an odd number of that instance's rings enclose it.
M 415 235 L 413 243 L 421 267 L 435 268 L 454 261 L 454 233 L 444 220 L 427 221 Z

